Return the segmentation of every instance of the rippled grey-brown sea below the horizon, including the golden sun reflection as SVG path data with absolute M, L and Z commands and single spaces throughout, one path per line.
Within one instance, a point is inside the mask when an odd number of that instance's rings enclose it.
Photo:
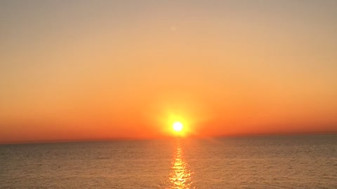
M 0 188 L 337 188 L 337 136 L 1 145 Z

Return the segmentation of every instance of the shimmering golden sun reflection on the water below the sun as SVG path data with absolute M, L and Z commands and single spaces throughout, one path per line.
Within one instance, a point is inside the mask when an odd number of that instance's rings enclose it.
M 192 188 L 192 172 L 183 155 L 183 147 L 177 141 L 176 151 L 173 157 L 172 172 L 169 176 L 171 186 L 169 188 L 187 189 Z

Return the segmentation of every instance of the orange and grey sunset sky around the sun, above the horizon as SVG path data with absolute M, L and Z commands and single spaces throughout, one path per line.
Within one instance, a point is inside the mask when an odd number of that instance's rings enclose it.
M 0 143 L 337 133 L 337 1 L 0 1 Z

